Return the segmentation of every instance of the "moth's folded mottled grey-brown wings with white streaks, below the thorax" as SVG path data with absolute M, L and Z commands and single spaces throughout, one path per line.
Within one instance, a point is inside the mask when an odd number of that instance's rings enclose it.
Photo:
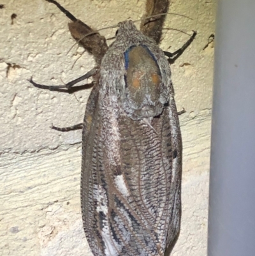
M 84 119 L 81 191 L 91 250 L 105 256 L 163 255 L 180 221 L 182 145 L 175 103 L 171 99 L 173 109 L 154 117 L 153 127 L 122 114 L 105 118 L 111 110 L 102 111 L 101 104 L 96 86 Z M 115 129 L 105 120 L 117 126 L 119 141 L 108 140 Z

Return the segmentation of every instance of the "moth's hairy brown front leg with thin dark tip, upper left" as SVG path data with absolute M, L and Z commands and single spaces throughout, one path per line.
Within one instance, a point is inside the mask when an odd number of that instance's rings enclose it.
M 106 44 L 106 39 L 104 36 L 98 33 L 98 31 L 87 26 L 81 20 L 78 20 L 73 16 L 68 10 L 64 9 L 61 4 L 57 3 L 55 0 L 46 0 L 49 3 L 55 4 L 72 22 L 68 24 L 69 31 L 73 38 L 84 47 L 87 52 L 94 56 L 96 64 L 99 66 L 101 60 L 105 55 L 108 46 Z

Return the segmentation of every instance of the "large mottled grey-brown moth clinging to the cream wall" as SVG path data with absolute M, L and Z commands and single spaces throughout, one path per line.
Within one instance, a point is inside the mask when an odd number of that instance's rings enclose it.
M 75 91 L 92 77 L 82 128 L 81 205 L 85 236 L 95 256 L 164 255 L 180 229 L 182 139 L 169 62 L 158 43 L 169 1 L 147 0 L 140 31 L 133 21 L 118 24 L 108 46 L 98 31 L 76 19 L 69 31 L 94 56 L 96 66 L 66 86 Z M 167 57 L 165 57 L 167 56 Z

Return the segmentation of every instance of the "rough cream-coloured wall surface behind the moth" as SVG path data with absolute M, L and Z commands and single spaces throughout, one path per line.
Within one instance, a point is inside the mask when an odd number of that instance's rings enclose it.
M 142 17 L 145 0 L 59 0 L 78 19 L 101 28 Z M 2 0 L 0 9 L 0 254 L 91 255 L 80 214 L 81 132 L 50 129 L 83 119 L 89 90 L 72 94 L 29 82 L 62 84 L 94 62 L 73 46 L 68 19 L 44 0 Z M 215 0 L 171 1 L 161 42 L 174 51 L 196 40 L 171 66 L 184 145 L 182 229 L 172 255 L 205 256 Z M 17 17 L 13 17 L 13 13 Z M 14 15 L 15 16 L 15 15 Z M 103 30 L 107 38 L 115 29 Z M 71 49 L 71 50 L 70 50 Z M 77 61 L 75 63 L 75 61 Z M 73 67 L 72 67 L 73 66 Z M 62 82 L 63 81 L 63 82 Z

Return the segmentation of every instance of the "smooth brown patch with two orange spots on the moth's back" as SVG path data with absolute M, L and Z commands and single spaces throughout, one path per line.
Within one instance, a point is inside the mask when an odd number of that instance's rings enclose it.
M 125 52 L 125 61 L 126 96 L 134 103 L 136 114 L 141 117 L 159 114 L 162 79 L 155 57 L 146 46 L 138 45 Z

